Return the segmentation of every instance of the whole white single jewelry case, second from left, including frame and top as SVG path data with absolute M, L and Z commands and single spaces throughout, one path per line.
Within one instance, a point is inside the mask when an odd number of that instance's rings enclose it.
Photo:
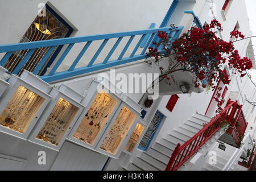
M 53 99 L 29 140 L 59 151 L 85 106 L 80 104 L 83 96 L 67 85 L 53 88 L 49 94 Z

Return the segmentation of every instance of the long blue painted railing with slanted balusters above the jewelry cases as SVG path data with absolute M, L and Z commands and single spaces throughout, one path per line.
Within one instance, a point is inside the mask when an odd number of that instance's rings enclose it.
M 114 34 L 102 34 L 102 35 L 90 35 L 90 36 L 81 36 L 81 37 L 73 37 L 73 38 L 63 38 L 63 39 L 55 39 L 55 40 L 43 40 L 38 42 L 27 42 L 27 43 L 18 43 L 18 44 L 10 44 L 10 45 L 2 45 L 0 46 L 0 53 L 6 52 L 5 56 L 3 56 L 2 60 L 0 61 L 0 65 L 3 67 L 6 61 L 10 58 L 10 56 L 15 51 L 20 50 L 28 50 L 26 56 L 23 57 L 22 61 L 16 66 L 13 71 L 13 74 L 18 74 L 19 71 L 24 67 L 27 61 L 30 59 L 32 53 L 35 51 L 36 48 L 43 48 L 43 47 L 50 47 L 43 58 L 39 61 L 38 65 L 36 65 L 34 71 L 35 75 L 37 75 L 42 69 L 43 65 L 46 63 L 48 57 L 51 55 L 52 51 L 55 49 L 56 46 L 63 46 L 68 45 L 65 48 L 62 55 L 59 57 L 59 60 L 53 65 L 51 71 L 48 75 L 41 76 L 44 81 L 53 82 L 58 80 L 63 80 L 65 78 L 70 78 L 73 76 L 79 76 L 85 73 L 98 71 L 105 68 L 114 67 L 121 64 L 130 63 L 132 61 L 142 60 L 147 57 L 146 51 L 148 46 L 152 43 L 152 40 L 157 36 L 158 31 L 166 31 L 167 34 L 170 36 L 170 39 L 177 39 L 183 30 L 183 27 L 177 27 L 172 29 L 171 27 L 164 27 L 164 28 L 152 28 L 148 30 L 139 30 L 139 31 L 130 31 L 130 32 L 118 32 Z M 149 35 L 149 36 L 148 36 Z M 130 56 L 123 57 L 129 48 L 131 42 L 133 42 L 135 36 L 141 36 L 141 38 L 137 41 L 136 46 L 134 47 L 133 51 L 131 52 Z M 129 37 L 129 40 L 126 43 L 126 46 L 122 49 L 120 53 L 118 53 L 119 57 L 115 60 L 109 60 L 110 57 L 113 55 L 115 49 L 117 49 L 119 43 L 124 37 Z M 141 46 L 142 42 L 146 40 L 146 44 L 143 46 L 143 50 L 141 53 L 135 55 L 138 48 Z M 102 49 L 106 46 L 109 39 L 117 39 L 114 46 L 110 49 L 108 55 L 106 55 L 105 59 L 102 59 L 102 63 L 94 64 L 97 57 L 100 55 Z M 75 68 L 76 65 L 79 63 L 81 57 L 85 54 L 86 51 L 90 48 L 90 44 L 95 40 L 102 40 L 101 46 L 97 49 L 96 53 L 89 61 L 88 65 L 85 67 Z M 71 51 L 72 47 L 76 43 L 84 43 L 84 47 L 80 51 L 79 55 L 76 56 L 76 59 L 73 61 L 72 65 L 69 67 L 67 71 L 63 72 L 56 72 L 57 68 L 60 67 L 63 60 L 68 55 L 69 51 Z M 163 50 L 162 50 L 163 51 Z

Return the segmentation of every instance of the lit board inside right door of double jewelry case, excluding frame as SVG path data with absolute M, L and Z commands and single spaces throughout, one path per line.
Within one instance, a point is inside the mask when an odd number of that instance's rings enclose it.
M 122 106 L 109 133 L 102 141 L 100 148 L 110 154 L 117 154 L 117 151 L 119 150 L 119 147 L 121 147 L 121 143 L 130 130 L 131 125 L 133 125 L 135 118 L 137 118 L 137 115 L 133 113 L 133 111 L 126 106 Z

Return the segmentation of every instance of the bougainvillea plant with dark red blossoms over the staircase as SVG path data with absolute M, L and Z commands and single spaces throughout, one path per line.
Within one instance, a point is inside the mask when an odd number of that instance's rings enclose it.
M 173 24 L 171 27 L 175 30 Z M 216 113 L 220 113 L 221 105 L 224 103 L 220 94 L 222 88 L 216 88 L 216 83 L 220 80 L 224 85 L 230 83 L 223 65 L 227 65 L 234 74 L 241 77 L 246 75 L 247 69 L 253 67 L 250 59 L 239 55 L 233 42 L 225 42 L 218 38 L 217 34 L 221 31 L 223 31 L 221 24 L 216 19 L 206 24 L 204 28 L 192 26 L 187 33 L 176 40 L 172 40 L 166 32 L 159 31 L 159 41 L 152 42 L 153 46 L 148 47 L 148 58 L 145 60 L 147 64 L 158 65 L 159 82 L 164 80 L 167 84 L 171 84 L 171 81 L 175 82 L 174 72 L 187 71 L 193 73 L 195 88 L 202 86 L 212 90 L 217 89 L 214 97 L 218 106 Z M 230 35 L 236 39 L 245 38 L 240 31 L 232 31 Z M 162 60 L 168 60 L 168 68 L 161 66 Z

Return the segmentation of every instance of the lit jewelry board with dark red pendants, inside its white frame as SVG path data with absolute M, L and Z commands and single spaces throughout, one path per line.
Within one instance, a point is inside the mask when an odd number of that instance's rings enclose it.
M 117 100 L 101 90 L 94 98 L 73 137 L 93 146 L 117 103 Z

